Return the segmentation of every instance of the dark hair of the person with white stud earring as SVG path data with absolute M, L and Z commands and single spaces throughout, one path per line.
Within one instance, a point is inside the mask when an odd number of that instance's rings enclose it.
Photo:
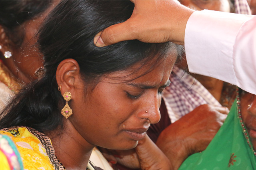
M 0 25 L 16 44 L 23 42 L 27 20 L 44 12 L 51 0 L 0 0 Z

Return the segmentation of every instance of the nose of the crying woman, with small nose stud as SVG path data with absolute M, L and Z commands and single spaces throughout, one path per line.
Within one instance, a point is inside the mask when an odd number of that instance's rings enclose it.
M 140 112 L 141 118 L 146 118 L 149 120 L 149 123 L 155 124 L 159 122 L 161 114 L 159 107 L 161 104 L 161 96 L 157 95 L 154 98 L 150 98 L 144 105 L 144 110 Z

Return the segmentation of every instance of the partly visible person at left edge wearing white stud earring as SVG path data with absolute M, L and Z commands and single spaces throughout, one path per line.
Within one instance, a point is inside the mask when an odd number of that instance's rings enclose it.
M 20 86 L 42 74 L 34 46 L 39 25 L 58 1 L 0 1 L 0 110 Z

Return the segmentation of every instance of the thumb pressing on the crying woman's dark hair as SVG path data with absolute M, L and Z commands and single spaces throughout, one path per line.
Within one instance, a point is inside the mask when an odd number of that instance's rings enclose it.
M 125 40 L 134 40 L 136 38 L 131 34 L 131 27 L 128 24 L 128 20 L 119 24 L 109 26 L 103 31 L 99 32 L 94 37 L 94 44 L 97 47 L 104 47 L 111 44 L 118 43 Z

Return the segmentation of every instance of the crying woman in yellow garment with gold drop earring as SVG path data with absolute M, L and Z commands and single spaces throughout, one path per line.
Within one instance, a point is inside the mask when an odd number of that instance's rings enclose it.
M 158 122 L 178 47 L 133 40 L 97 48 L 92 42 L 133 8 L 130 1 L 63 1 L 46 18 L 38 34 L 45 73 L 20 91 L 0 122 L 25 169 L 63 169 L 60 162 L 85 169 L 95 145 L 134 148 Z M 160 160 L 160 168 L 170 169 L 164 155 Z

